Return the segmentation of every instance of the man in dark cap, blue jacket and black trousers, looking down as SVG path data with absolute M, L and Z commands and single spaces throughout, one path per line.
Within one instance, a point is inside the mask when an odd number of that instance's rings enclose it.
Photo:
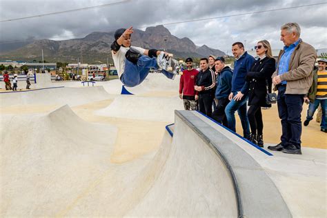
M 218 73 L 215 89 L 215 98 L 218 99 L 217 106 L 212 112 L 212 119 L 228 127 L 228 121 L 225 114 L 225 108 L 230 102 L 228 95 L 232 89 L 232 69 L 225 66 L 224 57 L 215 59 L 215 72 Z

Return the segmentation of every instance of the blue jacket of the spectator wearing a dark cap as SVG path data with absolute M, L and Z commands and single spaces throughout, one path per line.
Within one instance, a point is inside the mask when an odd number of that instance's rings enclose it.
M 216 99 L 224 99 L 230 95 L 232 89 L 232 69 L 224 67 L 217 77 Z

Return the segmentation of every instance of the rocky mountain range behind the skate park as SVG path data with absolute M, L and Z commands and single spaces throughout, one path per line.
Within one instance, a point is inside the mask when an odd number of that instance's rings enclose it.
M 43 49 L 44 59 L 53 62 L 106 63 L 112 62 L 110 44 L 114 41 L 114 32 L 92 32 L 83 39 L 54 41 L 50 39 L 36 40 L 28 45 L 22 43 L 21 48 L 1 52 L 0 59 L 40 60 Z M 175 57 L 208 57 L 209 54 L 221 56 L 225 53 L 208 46 L 196 46 L 190 39 L 179 39 L 164 26 L 146 28 L 145 31 L 135 29 L 132 34 L 132 45 L 142 48 L 156 48 L 175 54 Z M 19 46 L 19 45 L 16 45 Z

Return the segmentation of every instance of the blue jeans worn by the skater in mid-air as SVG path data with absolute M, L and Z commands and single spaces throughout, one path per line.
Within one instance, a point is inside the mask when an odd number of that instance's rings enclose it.
M 128 87 L 134 87 L 139 85 L 146 76 L 148 76 L 151 68 L 158 69 L 157 59 L 155 57 L 148 57 L 146 55 L 141 55 L 137 64 L 134 64 L 127 59 L 125 60 L 125 68 L 123 70 L 123 75 L 121 75 L 121 82 Z M 174 74 L 166 70 L 161 70 L 161 72 L 168 78 L 173 79 Z

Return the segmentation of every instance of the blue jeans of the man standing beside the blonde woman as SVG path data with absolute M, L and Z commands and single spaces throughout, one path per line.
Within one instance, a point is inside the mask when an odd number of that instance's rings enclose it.
M 237 92 L 234 93 L 234 96 Z M 246 113 L 246 100 L 248 98 L 244 97 L 241 101 L 235 101 L 232 99 L 230 103 L 225 108 L 225 114 L 228 121 L 228 128 L 236 132 L 236 120 L 235 120 L 235 111 L 239 114 L 239 119 L 241 119 L 241 124 L 243 128 L 243 135 L 245 138 L 248 138 L 250 135 L 250 124 L 248 122 L 248 115 Z

